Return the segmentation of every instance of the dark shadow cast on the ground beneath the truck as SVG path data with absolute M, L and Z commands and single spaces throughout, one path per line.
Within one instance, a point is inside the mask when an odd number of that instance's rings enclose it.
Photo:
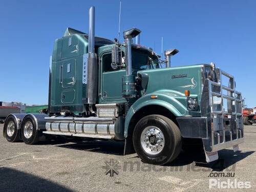
M 51 141 L 51 144 L 54 144 Z M 59 144 L 58 142 L 55 144 Z M 90 151 L 103 154 L 112 154 L 112 155 L 123 155 L 124 142 L 121 141 L 108 141 L 108 140 L 91 140 L 91 141 L 76 141 L 76 143 L 65 143 L 56 145 L 58 147 L 71 148 L 73 150 L 81 151 Z M 235 164 L 247 156 L 251 155 L 255 151 L 237 151 L 233 150 L 221 150 L 219 152 L 219 160 L 206 163 L 204 152 L 202 153 L 185 153 L 181 152 L 176 160 L 166 164 L 164 166 L 185 166 L 190 165 L 195 162 L 195 165 L 198 167 L 210 168 L 212 171 L 222 171 L 230 166 L 235 166 Z M 132 157 L 133 159 L 139 158 L 138 156 Z

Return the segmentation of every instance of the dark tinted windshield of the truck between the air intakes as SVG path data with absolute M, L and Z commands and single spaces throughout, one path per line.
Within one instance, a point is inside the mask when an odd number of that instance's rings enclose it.
M 132 49 L 133 71 L 159 68 L 158 57 L 148 51 Z

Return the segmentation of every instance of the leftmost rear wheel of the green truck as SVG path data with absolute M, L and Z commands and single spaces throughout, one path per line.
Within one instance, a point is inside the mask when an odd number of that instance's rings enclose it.
M 17 124 L 15 123 L 15 119 L 12 116 L 9 116 L 5 121 L 4 137 L 9 142 L 19 141 L 19 130 L 17 129 Z

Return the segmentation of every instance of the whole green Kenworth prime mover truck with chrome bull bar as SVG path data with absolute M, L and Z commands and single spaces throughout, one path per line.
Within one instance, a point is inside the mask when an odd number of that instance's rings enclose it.
M 45 134 L 114 139 L 124 141 L 124 155 L 135 150 L 142 161 L 160 165 L 182 145 L 196 151 L 201 142 L 207 162 L 224 148 L 238 150 L 242 96 L 232 75 L 214 63 L 170 68 L 178 50 L 166 50 L 160 60 L 133 43 L 136 28 L 123 32 L 124 43 L 95 37 L 94 18 L 91 7 L 89 34 L 68 28 L 55 40 L 48 114 L 10 114 L 8 141 L 34 144 Z

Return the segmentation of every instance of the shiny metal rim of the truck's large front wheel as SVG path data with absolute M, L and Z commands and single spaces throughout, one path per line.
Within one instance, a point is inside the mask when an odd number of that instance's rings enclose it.
M 141 133 L 140 144 L 147 154 L 159 154 L 164 147 L 162 131 L 156 126 L 147 126 Z

